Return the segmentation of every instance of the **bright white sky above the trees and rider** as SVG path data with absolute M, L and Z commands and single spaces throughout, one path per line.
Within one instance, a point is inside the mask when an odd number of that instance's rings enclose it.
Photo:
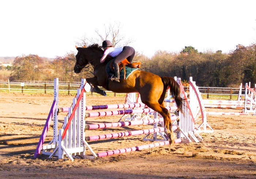
M 119 23 L 129 46 L 147 57 L 185 46 L 229 53 L 256 42 L 255 7 L 256 0 L 4 0 L 0 57 L 76 53 L 84 36 Z

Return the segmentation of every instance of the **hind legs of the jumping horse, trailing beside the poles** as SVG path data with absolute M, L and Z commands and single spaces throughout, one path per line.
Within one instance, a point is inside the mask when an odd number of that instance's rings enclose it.
M 160 105 L 159 103 L 156 103 L 156 104 L 151 104 L 148 102 L 143 102 L 143 103 L 162 115 L 163 123 L 165 127 L 165 133 L 167 137 L 170 139 L 170 145 L 174 144 L 175 135 L 172 129 L 172 123 L 171 123 L 170 114 L 168 113 L 168 110 L 164 106 Z

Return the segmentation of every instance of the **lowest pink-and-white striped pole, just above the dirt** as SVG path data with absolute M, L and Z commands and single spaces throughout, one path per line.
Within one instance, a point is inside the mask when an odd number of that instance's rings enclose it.
M 182 142 L 182 140 L 180 138 L 175 139 L 174 141 L 175 141 L 175 144 Z M 140 145 L 140 146 L 135 146 L 135 147 L 130 147 L 130 148 L 117 149 L 117 150 L 113 150 L 113 151 L 98 152 L 98 153 L 96 153 L 96 155 L 98 157 L 106 157 L 106 156 L 111 156 L 111 155 L 116 155 L 116 154 L 121 154 L 121 153 L 126 153 L 126 152 L 140 151 L 142 149 L 153 148 L 153 147 L 169 145 L 169 144 L 170 144 L 170 141 L 162 141 L 162 142 L 156 142 L 153 144 L 145 144 L 145 145 Z

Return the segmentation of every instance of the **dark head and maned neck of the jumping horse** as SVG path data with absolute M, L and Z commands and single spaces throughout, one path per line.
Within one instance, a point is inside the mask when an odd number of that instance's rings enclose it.
M 99 63 L 103 50 L 98 44 L 93 44 L 89 47 L 77 47 L 78 53 L 76 54 L 76 63 L 74 66 L 74 72 L 80 73 L 81 70 L 89 63 L 93 66 Z

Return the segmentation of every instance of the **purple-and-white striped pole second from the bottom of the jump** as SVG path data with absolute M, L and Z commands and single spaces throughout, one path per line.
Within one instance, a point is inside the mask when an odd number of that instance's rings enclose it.
M 174 128 L 177 129 L 176 126 Z M 173 129 L 173 130 L 176 130 L 176 129 Z M 85 138 L 86 138 L 86 141 L 97 141 L 97 140 L 109 139 L 109 138 L 136 136 L 136 135 L 142 135 L 142 134 L 151 134 L 151 133 L 156 133 L 156 132 L 164 132 L 164 128 L 159 127 L 159 128 L 154 128 L 154 129 L 152 128 L 152 129 L 143 129 L 143 130 L 133 130 L 133 131 L 128 131 L 128 132 L 101 134 L 101 135 L 98 135 L 98 136 L 88 136 L 88 137 L 85 137 Z

